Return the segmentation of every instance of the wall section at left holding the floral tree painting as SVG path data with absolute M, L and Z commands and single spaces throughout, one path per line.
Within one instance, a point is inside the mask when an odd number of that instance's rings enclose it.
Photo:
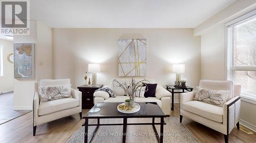
M 14 43 L 35 43 L 35 79 L 14 80 L 14 109 L 32 109 L 34 82 L 52 78 L 51 27 L 30 21 L 30 35 L 14 36 Z

